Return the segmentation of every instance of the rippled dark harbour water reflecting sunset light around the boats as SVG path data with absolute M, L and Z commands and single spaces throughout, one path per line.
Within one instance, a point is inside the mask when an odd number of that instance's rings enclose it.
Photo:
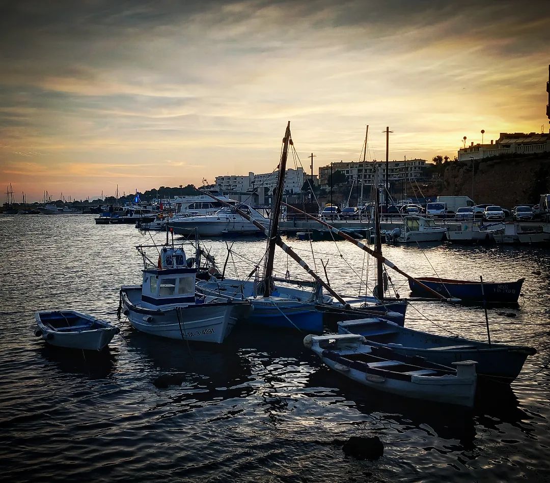
M 550 250 L 384 247 L 411 275 L 526 277 L 519 306 L 490 308 L 488 318 L 493 341 L 538 353 L 511 387 L 479 391 L 471 412 L 349 384 L 298 332 L 241 325 L 214 347 L 146 336 L 121 320 L 109 349 L 86 356 L 34 336 L 41 309 L 116 320 L 120 285 L 141 282 L 135 246 L 148 240 L 91 215 L 0 216 L 0 479 L 550 481 Z M 223 265 L 226 242 L 204 242 Z M 288 242 L 320 273 L 328 260 L 331 285 L 346 294 L 364 293 L 357 276 L 373 278 L 372 260 L 346 242 Z M 229 276 L 248 274 L 247 260 L 265 251 L 264 240 L 228 243 Z M 279 274 L 287 263 L 303 277 L 282 252 Z M 409 295 L 403 277 L 392 281 Z M 415 303 L 406 325 L 486 338 L 480 307 Z M 343 441 L 370 435 L 384 443 L 381 459 L 344 455 Z

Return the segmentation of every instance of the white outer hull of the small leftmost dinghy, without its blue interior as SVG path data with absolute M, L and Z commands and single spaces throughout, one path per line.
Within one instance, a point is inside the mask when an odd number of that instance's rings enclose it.
M 109 324 L 105 320 L 80 314 L 74 310 L 65 310 L 63 312 L 78 314 L 81 319 L 93 321 L 95 325 L 100 325 L 101 327 L 97 329 L 78 329 L 78 326 L 76 326 L 74 331 L 55 330 L 52 329 L 51 326 L 48 326 L 47 322 L 43 320 L 46 314 L 52 314 L 52 312 L 37 312 L 35 314 L 36 325 L 38 327 L 36 335 L 41 336 L 43 340 L 51 346 L 69 349 L 84 349 L 87 351 L 101 351 L 101 349 L 105 348 L 120 331 L 118 327 Z

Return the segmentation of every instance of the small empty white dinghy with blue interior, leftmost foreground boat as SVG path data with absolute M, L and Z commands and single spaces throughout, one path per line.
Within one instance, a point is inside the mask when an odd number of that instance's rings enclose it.
M 120 332 L 117 326 L 76 310 L 43 310 L 36 312 L 35 319 L 35 335 L 58 347 L 101 351 Z

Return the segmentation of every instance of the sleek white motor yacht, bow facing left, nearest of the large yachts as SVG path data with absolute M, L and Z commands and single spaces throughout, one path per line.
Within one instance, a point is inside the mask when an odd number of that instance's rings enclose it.
M 239 209 L 266 228 L 269 227 L 270 220 L 262 216 L 254 208 L 241 204 L 239 205 Z M 168 226 L 174 230 L 174 233 L 179 235 L 189 235 L 193 230 L 196 230 L 201 236 L 261 234 L 258 227 L 239 215 L 234 207 L 222 208 L 213 214 L 189 215 L 188 213 L 183 213 L 174 215 L 169 221 Z

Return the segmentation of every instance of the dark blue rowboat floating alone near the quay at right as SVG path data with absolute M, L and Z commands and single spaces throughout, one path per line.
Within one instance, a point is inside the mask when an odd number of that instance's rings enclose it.
M 438 279 L 436 277 L 409 279 L 409 287 L 413 295 L 431 296 L 415 280 L 422 282 L 422 284 L 445 297 L 460 298 L 464 301 L 482 302 L 485 299 L 486 302 L 506 303 L 518 302 L 521 285 L 525 281 L 525 279 L 519 279 L 515 282 L 483 282 L 483 292 L 485 292 L 485 297 L 483 297 L 480 281 Z

